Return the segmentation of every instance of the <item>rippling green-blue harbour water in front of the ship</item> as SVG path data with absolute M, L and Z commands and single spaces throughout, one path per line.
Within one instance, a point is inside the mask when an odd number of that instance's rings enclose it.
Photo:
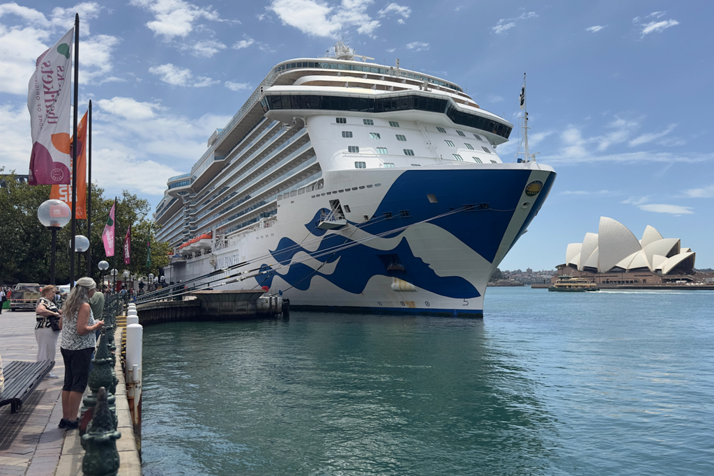
M 144 475 L 712 475 L 714 293 L 144 334 Z

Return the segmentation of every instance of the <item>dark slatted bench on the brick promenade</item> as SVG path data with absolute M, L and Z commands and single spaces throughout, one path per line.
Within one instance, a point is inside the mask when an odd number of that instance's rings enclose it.
M 39 362 L 11 360 L 8 365 L 3 367 L 5 388 L 0 393 L 0 407 L 11 405 L 11 413 L 20 410 L 53 367 L 54 360 L 40 360 Z

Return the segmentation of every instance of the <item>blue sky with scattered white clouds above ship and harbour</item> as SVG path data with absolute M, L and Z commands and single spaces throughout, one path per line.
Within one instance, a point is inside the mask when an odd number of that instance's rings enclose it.
M 672 1 L 130 0 L 0 4 L 0 167 L 27 173 L 37 56 L 79 13 L 80 114 L 93 180 L 156 206 L 271 67 L 341 39 L 376 62 L 453 81 L 518 123 L 558 173 L 501 269 L 553 269 L 608 216 L 651 225 L 714 268 L 714 4 Z M 498 147 L 513 160 L 518 142 Z

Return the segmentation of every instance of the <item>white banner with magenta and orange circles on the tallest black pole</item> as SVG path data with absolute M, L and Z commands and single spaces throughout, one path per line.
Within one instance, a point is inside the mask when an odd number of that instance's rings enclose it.
M 30 185 L 71 183 L 69 118 L 74 28 L 37 59 L 29 83 Z

